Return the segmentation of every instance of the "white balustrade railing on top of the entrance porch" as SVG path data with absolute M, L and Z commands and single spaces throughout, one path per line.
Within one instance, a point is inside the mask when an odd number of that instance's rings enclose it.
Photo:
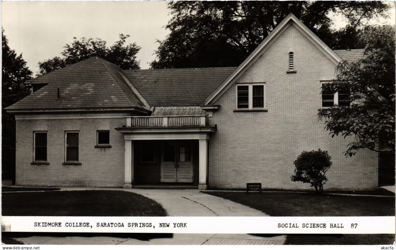
M 195 116 L 127 116 L 127 127 L 207 126 L 208 117 Z

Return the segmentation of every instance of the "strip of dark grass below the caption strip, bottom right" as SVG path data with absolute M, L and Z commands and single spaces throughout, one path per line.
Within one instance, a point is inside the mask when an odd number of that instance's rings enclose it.
M 287 235 L 285 245 L 392 245 L 394 234 Z

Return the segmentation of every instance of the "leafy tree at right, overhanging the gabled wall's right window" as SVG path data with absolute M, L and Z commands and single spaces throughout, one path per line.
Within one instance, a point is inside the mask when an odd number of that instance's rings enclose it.
M 360 38 L 364 56 L 341 62 L 335 80 L 322 91 L 348 91 L 346 103 L 321 110 L 325 128 L 333 136 L 351 137 L 346 156 L 363 148 L 395 148 L 395 27 L 366 27 Z

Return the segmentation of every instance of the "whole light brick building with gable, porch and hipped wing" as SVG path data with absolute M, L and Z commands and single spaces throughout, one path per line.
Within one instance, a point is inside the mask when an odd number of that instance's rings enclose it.
M 293 161 L 321 148 L 332 157 L 326 189 L 378 186 L 378 155 L 346 158 L 318 109 L 342 60 L 363 50 L 329 49 L 289 15 L 236 68 L 121 70 L 99 57 L 38 76 L 32 94 L 8 107 L 17 133 L 16 184 L 307 189 Z

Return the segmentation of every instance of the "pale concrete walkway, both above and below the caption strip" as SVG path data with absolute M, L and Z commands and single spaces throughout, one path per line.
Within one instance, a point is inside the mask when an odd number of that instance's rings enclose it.
M 268 216 L 267 214 L 227 199 L 200 193 L 198 189 L 122 189 L 61 187 L 71 190 L 122 190 L 137 193 L 160 203 L 168 216 Z M 285 235 L 260 237 L 248 234 L 169 234 L 171 237 L 139 240 L 118 237 L 49 237 L 14 238 L 24 244 L 81 244 L 81 245 L 282 245 Z

